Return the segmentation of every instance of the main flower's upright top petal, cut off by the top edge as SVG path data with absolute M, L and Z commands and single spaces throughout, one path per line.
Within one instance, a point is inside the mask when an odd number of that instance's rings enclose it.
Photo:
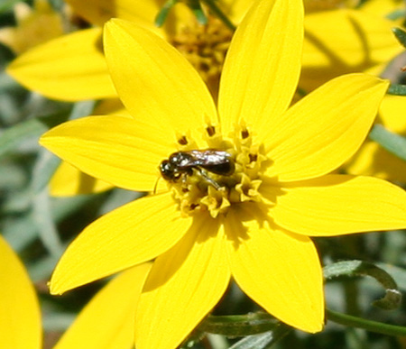
M 241 119 L 262 134 L 291 104 L 300 74 L 302 7 L 300 0 L 261 1 L 245 15 L 220 81 L 225 134 Z

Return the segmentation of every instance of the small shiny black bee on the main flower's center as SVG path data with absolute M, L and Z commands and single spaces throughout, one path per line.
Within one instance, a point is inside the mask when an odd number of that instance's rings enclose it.
M 164 179 L 176 182 L 179 179 L 186 179 L 186 176 L 193 174 L 193 169 L 198 170 L 201 176 L 206 179 L 217 190 L 220 185 L 210 177 L 208 172 L 222 176 L 230 176 L 234 173 L 235 162 L 228 152 L 207 149 L 203 151 L 174 152 L 169 160 L 161 162 L 160 171 Z

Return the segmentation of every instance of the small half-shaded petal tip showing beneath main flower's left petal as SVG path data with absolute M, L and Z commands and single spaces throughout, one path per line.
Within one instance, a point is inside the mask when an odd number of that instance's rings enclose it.
M 111 188 L 114 186 L 110 183 L 90 177 L 65 161 L 60 164 L 50 181 L 53 197 L 73 197 L 78 194 L 100 193 Z

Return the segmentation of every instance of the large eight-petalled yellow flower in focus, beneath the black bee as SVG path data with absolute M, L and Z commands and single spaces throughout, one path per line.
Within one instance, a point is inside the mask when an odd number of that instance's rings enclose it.
M 88 225 L 62 256 L 52 293 L 156 258 L 137 309 L 137 349 L 179 345 L 231 277 L 281 321 L 321 330 L 321 267 L 309 236 L 405 227 L 406 194 L 381 179 L 328 175 L 364 141 L 388 83 L 348 75 L 288 109 L 302 40 L 300 0 L 254 5 L 227 53 L 216 108 L 173 47 L 134 23 L 107 23 L 106 59 L 133 118 L 71 121 L 42 145 L 136 191 L 154 188 L 174 152 L 215 150 L 224 168 L 174 172 L 158 194 Z

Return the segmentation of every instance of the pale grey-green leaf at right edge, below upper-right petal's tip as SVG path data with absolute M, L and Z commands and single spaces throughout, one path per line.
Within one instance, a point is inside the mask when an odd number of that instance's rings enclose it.
M 369 138 L 379 143 L 388 152 L 392 152 L 401 160 L 406 161 L 406 138 L 386 130 L 382 125 L 375 124 Z

